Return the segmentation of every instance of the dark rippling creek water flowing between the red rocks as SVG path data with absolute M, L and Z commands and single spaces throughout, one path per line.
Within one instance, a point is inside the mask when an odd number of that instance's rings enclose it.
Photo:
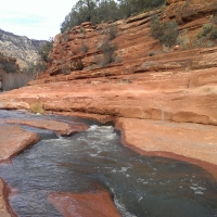
M 21 217 L 59 217 L 48 202 L 52 192 L 88 192 L 99 184 L 114 194 L 123 217 L 215 217 L 217 183 L 204 169 L 186 162 L 150 157 L 120 144 L 113 126 L 54 115 L 0 111 L 0 118 L 49 118 L 88 124 L 87 131 L 56 137 L 23 127 L 40 142 L 0 165 L 0 177 L 16 195 L 10 203 Z

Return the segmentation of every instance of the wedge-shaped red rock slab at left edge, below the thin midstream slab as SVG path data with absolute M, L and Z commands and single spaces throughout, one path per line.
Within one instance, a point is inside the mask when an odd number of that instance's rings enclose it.
M 25 148 L 39 141 L 39 136 L 17 126 L 0 126 L 0 162 L 8 161 Z

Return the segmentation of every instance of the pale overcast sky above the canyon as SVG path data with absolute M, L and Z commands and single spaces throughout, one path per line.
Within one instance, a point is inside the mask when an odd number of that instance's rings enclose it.
M 4 0 L 0 5 L 0 28 L 30 39 L 49 39 L 77 0 Z

